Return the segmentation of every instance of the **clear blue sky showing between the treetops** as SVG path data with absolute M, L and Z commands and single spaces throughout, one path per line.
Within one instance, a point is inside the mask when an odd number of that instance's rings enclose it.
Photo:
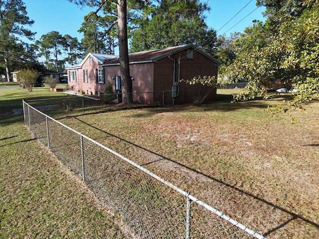
M 80 40 L 83 35 L 77 32 L 84 21 L 84 16 L 96 8 L 84 7 L 81 9 L 76 4 L 68 0 L 23 0 L 26 6 L 27 15 L 34 20 L 34 24 L 28 29 L 37 32 L 35 39 L 40 39 L 41 35 L 50 31 L 58 31 L 60 34 L 69 34 Z M 240 9 L 250 2 L 238 15 L 236 15 L 226 26 L 218 31 L 218 34 L 225 33 L 242 18 L 256 8 L 256 0 L 208 0 L 211 7 L 210 12 L 206 12 L 206 22 L 209 27 L 218 30 L 228 20 L 230 20 Z M 264 20 L 262 12 L 264 7 L 259 7 L 252 14 L 229 30 L 229 33 L 238 31 L 243 32 L 246 26 L 252 24 L 252 20 Z

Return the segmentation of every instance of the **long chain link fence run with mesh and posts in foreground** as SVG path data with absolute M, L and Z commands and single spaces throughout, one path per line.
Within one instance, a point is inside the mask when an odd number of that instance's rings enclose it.
M 83 101 L 82 97 L 62 100 L 73 102 L 75 109 L 80 109 Z M 48 114 L 59 115 L 54 111 L 65 109 L 64 103 L 61 106 L 58 102 L 61 99 L 23 101 L 25 123 L 99 200 L 120 212 L 132 237 L 265 239 L 130 159 L 53 119 Z

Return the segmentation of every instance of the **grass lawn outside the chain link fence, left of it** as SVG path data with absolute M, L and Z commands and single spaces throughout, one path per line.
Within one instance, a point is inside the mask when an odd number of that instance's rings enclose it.
M 48 87 L 0 90 L 0 238 L 125 238 L 120 217 L 12 115 L 22 99 L 61 96 Z

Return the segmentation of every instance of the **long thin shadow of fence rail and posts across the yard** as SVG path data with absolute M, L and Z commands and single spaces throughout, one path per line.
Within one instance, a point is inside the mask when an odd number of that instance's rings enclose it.
M 101 131 L 101 132 L 103 132 L 103 133 L 106 133 L 106 134 L 112 136 L 112 137 L 115 137 L 115 138 L 117 138 L 117 139 L 120 139 L 121 141 L 124 141 L 124 142 L 126 142 L 126 143 L 128 143 L 128 144 L 130 144 L 130 145 L 132 145 L 132 146 L 135 146 L 135 147 L 138 147 L 138 148 L 140 148 L 140 149 L 143 149 L 143 150 L 145 150 L 145 151 L 147 151 L 147 152 L 149 152 L 149 153 L 152 153 L 152 154 L 154 154 L 154 155 L 156 155 L 156 156 L 159 156 L 159 157 L 161 158 L 161 159 L 157 159 L 157 160 L 155 160 L 155 161 L 151 161 L 151 162 L 149 162 L 149 163 L 147 163 L 147 164 L 151 164 L 151 163 L 154 163 L 154 162 L 160 161 L 160 160 L 167 160 L 167 161 L 173 162 L 173 163 L 175 163 L 175 164 L 177 164 L 177 165 L 179 165 L 179 166 L 185 167 L 185 168 L 187 168 L 187 169 L 190 170 L 190 171 L 193 171 L 193 172 L 195 172 L 195 173 L 197 173 L 197 174 L 200 174 L 200 175 L 202 175 L 202 176 L 204 176 L 204 177 L 207 177 L 207 178 L 209 178 L 209 179 L 211 179 L 211 180 L 213 180 L 213 181 L 215 181 L 215 182 L 217 182 L 217 183 L 219 183 L 219 184 L 221 184 L 221 185 L 224 185 L 224 186 L 226 186 L 226 187 L 228 187 L 228 188 L 231 188 L 231 189 L 233 189 L 233 190 L 236 190 L 237 192 L 239 192 L 239 193 L 241 193 L 241 194 L 243 194 L 243 195 L 249 196 L 249 197 L 253 198 L 254 200 L 257 200 L 257 201 L 259 201 L 259 202 L 262 202 L 262 203 L 264 203 L 264 204 L 266 204 L 266 205 L 268 205 L 268 206 L 270 206 L 270 207 L 272 207 L 272 208 L 274 208 L 274 209 L 280 210 L 280 211 L 282 211 L 283 213 L 286 213 L 286 214 L 288 214 L 288 215 L 291 216 L 290 219 L 288 219 L 288 220 L 282 222 L 282 223 L 281 223 L 280 225 L 278 225 L 277 227 L 275 227 L 275 228 L 269 230 L 268 232 L 264 233 L 263 236 L 265 236 L 265 237 L 268 236 L 268 235 L 270 235 L 271 233 L 273 233 L 273 232 L 275 232 L 275 231 L 277 231 L 277 230 L 279 230 L 279 229 L 285 227 L 285 226 L 286 226 L 287 224 L 289 224 L 290 222 L 292 222 L 292 221 L 294 221 L 294 220 L 298 220 L 298 219 L 299 219 L 299 220 L 302 220 L 302 221 L 304 221 L 305 223 L 308 223 L 308 224 L 310 224 L 310 225 L 312 225 L 312 226 L 314 226 L 314 227 L 316 227 L 316 228 L 319 229 L 319 224 L 318 224 L 318 223 L 312 222 L 311 220 L 309 220 L 309 219 L 307 219 L 307 218 L 304 218 L 304 217 L 302 217 L 302 216 L 300 216 L 300 215 L 298 215 L 298 214 L 296 214 L 296 213 L 290 212 L 290 211 L 288 211 L 288 210 L 285 209 L 285 208 L 282 208 L 282 207 L 280 207 L 280 206 L 277 206 L 277 205 L 273 204 L 272 202 L 266 201 L 266 200 L 264 200 L 264 199 L 262 199 L 262 198 L 259 198 L 259 197 L 255 196 L 255 195 L 253 195 L 253 194 L 251 194 L 251 193 L 249 193 L 249 192 L 246 192 L 246 191 L 244 191 L 244 190 L 242 190 L 242 189 L 240 189 L 240 188 L 237 188 L 237 187 L 235 187 L 235 185 L 228 184 L 228 183 L 226 183 L 226 182 L 224 182 L 224 181 L 222 181 L 222 180 L 220 180 L 220 179 L 217 179 L 217 178 L 211 177 L 211 176 L 209 176 L 209 175 L 206 175 L 206 174 L 204 174 L 204 173 L 202 173 L 202 172 L 200 172 L 200 171 L 198 171 L 198 170 L 196 170 L 196 169 L 193 169 L 193 168 L 188 167 L 187 165 L 184 165 L 184 164 L 182 164 L 182 163 L 179 163 L 179 162 L 177 162 L 177 161 L 174 161 L 174 160 L 172 160 L 172 159 L 170 159 L 170 158 L 167 158 L 167 157 L 165 157 L 165 156 L 163 156 L 163 155 L 160 155 L 159 153 L 153 152 L 153 151 L 151 151 L 151 150 L 149 150 L 149 149 L 147 149 L 147 148 L 144 148 L 144 147 L 142 147 L 142 146 L 140 146 L 140 145 L 137 145 L 137 144 L 135 144 L 135 143 L 132 143 L 132 142 L 130 142 L 130 141 L 124 139 L 124 138 L 121 138 L 121 137 L 119 137 L 119 136 L 117 136 L 117 135 L 114 135 L 114 134 L 112 134 L 112 133 L 109 133 L 109 132 L 107 132 L 107 131 L 104 131 L 104 130 L 98 128 L 98 127 L 92 126 L 91 124 L 89 124 L 89 123 L 87 123 L 87 122 L 85 122 L 85 121 L 83 121 L 83 120 L 81 120 L 81 119 L 78 119 L 78 118 L 76 118 L 76 117 L 75 117 L 75 119 L 77 119 L 78 121 L 80 121 L 80 122 L 82 122 L 82 123 L 84 123 L 84 124 L 86 124 L 86 125 L 88 125 L 88 126 L 94 128 L 94 129 L 96 129 L 96 130 L 99 130 L 99 131 Z M 141 166 L 145 166 L 145 165 L 147 165 L 147 164 L 144 164 L 144 165 L 141 165 Z

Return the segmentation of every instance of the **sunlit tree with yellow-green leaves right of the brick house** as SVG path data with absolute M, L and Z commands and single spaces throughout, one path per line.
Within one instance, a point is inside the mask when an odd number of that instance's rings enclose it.
M 234 79 L 245 78 L 248 85 L 234 100 L 248 100 L 265 93 L 270 79 L 292 83 L 299 90 L 294 100 L 273 111 L 302 108 L 301 103 L 319 96 L 319 5 L 309 4 L 298 16 L 287 14 L 261 46 L 252 44 L 242 51 L 227 74 Z M 267 21 L 266 21 L 267 22 Z M 268 31 L 269 33 L 270 31 Z

